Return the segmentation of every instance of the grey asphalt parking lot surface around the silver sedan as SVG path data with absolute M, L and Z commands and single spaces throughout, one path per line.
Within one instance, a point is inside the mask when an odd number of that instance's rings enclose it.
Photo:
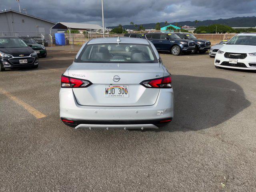
M 161 54 L 170 124 L 74 130 L 58 102 L 74 52 L 48 48 L 38 69 L 0 73 L 0 191 L 255 191 L 256 73 L 216 69 L 207 54 Z

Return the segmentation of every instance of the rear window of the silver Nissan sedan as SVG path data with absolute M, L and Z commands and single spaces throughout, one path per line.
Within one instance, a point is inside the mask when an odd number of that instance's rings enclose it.
M 76 62 L 158 63 L 158 60 L 151 46 L 145 44 L 89 44 Z

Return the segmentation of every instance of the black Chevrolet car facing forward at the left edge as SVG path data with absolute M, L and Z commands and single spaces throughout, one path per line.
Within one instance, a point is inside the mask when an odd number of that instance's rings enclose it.
M 0 71 L 21 67 L 37 68 L 37 53 L 20 38 L 0 37 Z

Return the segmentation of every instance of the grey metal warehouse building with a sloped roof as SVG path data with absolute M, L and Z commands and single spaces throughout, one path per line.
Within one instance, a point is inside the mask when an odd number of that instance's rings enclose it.
M 54 22 L 14 10 L 0 12 L 0 36 L 41 36 L 49 34 L 54 25 Z

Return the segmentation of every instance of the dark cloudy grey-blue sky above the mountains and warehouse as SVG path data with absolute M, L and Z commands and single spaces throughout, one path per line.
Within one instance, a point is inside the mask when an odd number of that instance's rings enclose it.
M 0 10 L 18 10 L 16 0 L 0 0 Z M 102 26 L 101 0 L 20 0 L 28 14 L 53 22 Z M 24 11 L 23 11 L 24 12 Z M 104 0 L 105 26 L 256 16 L 256 0 Z

